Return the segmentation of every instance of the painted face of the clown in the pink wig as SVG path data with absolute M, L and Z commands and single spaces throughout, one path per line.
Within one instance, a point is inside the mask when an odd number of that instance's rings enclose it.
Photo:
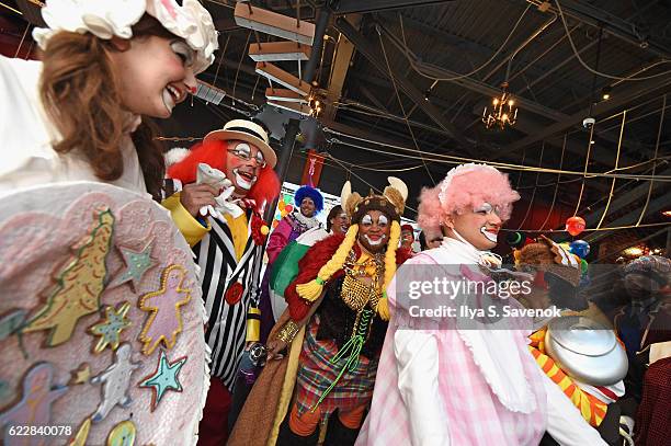
M 502 221 L 496 207 L 489 203 L 484 203 L 473 213 L 454 214 L 450 221 L 446 221 L 447 236 L 454 236 L 451 233 L 454 230 L 480 251 L 490 250 L 497 245 L 501 225 Z

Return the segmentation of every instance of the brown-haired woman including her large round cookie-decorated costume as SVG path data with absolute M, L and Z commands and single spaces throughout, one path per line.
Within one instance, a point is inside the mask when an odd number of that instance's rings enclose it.
M 194 445 L 205 309 L 189 245 L 150 199 L 164 163 L 147 118 L 195 92 L 217 33 L 196 0 L 47 0 L 42 14 L 42 61 L 0 56 L 0 443 Z

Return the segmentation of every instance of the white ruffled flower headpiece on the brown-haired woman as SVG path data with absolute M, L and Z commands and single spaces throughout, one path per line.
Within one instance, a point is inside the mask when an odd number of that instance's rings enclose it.
M 212 65 L 219 47 L 217 31 L 209 12 L 197 0 L 184 0 L 181 7 L 175 0 L 47 0 L 42 16 L 49 27 L 35 28 L 33 38 L 42 49 L 59 31 L 88 32 L 103 39 L 130 38 L 132 26 L 145 13 L 196 52 L 195 73 Z

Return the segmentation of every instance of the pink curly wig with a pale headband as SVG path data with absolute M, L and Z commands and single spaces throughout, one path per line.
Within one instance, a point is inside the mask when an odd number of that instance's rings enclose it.
M 418 224 L 423 230 L 440 230 L 452 214 L 463 214 L 482 203 L 501 208 L 502 220 L 510 218 L 512 204 L 520 194 L 512 190 L 508 175 L 487 164 L 462 164 L 447 172 L 435 187 L 420 194 Z

